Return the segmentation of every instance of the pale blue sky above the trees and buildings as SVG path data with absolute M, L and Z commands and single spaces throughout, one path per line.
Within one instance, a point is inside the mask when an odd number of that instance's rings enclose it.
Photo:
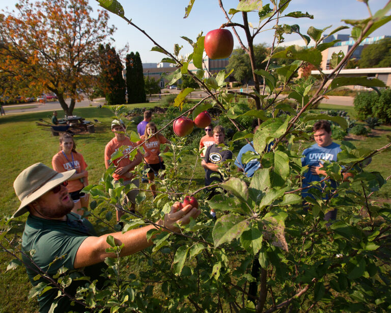
M 8 6 L 9 9 L 14 8 L 15 0 L 1 0 L 0 10 Z M 94 11 L 99 9 L 99 5 L 95 0 L 89 0 Z M 131 19 L 139 28 L 146 31 L 156 42 L 162 45 L 169 51 L 173 51 L 175 43 L 183 45 L 182 54 L 190 53 L 190 45 L 180 38 L 186 36 L 195 40 L 197 35 L 203 31 L 204 35 L 213 29 L 219 28 L 222 23 L 226 22 L 225 16 L 222 13 L 217 0 L 195 0 L 190 16 L 184 19 L 185 7 L 188 5 L 188 0 L 119 0 L 122 4 L 125 16 Z M 236 8 L 238 0 L 222 0 L 224 8 L 228 12 L 230 8 Z M 264 0 L 266 5 L 269 1 Z M 387 3 L 387 0 L 369 0 L 369 5 L 374 14 L 378 9 L 382 8 Z M 314 19 L 309 18 L 284 18 L 280 23 L 299 24 L 300 31 L 306 33 L 310 26 L 318 29 L 323 29 L 332 25 L 330 30 L 344 25 L 342 19 L 362 19 L 369 16 L 368 10 L 364 3 L 357 0 L 293 0 L 285 13 L 292 11 L 309 12 L 314 15 Z M 129 44 L 129 51 L 138 51 L 141 55 L 143 63 L 159 62 L 164 55 L 150 51 L 153 43 L 145 37 L 141 32 L 128 25 L 125 20 L 120 17 L 110 14 L 110 24 L 117 27 L 114 35 L 115 46 L 122 48 L 126 43 Z M 389 14 L 389 13 L 388 13 Z M 233 19 L 235 22 L 241 22 L 239 18 Z M 249 21 L 254 26 L 258 24 L 257 14 L 249 14 Z M 270 25 L 269 28 L 272 27 Z M 245 39 L 244 33 L 240 28 L 236 28 L 242 40 Z M 350 30 L 344 30 L 341 34 L 348 34 Z M 265 31 L 256 37 L 255 43 L 267 43 L 272 41 L 272 31 Z M 383 25 L 371 36 L 391 35 L 391 22 Z M 297 35 L 287 35 L 286 41 L 295 40 Z M 235 47 L 238 40 L 235 38 Z

